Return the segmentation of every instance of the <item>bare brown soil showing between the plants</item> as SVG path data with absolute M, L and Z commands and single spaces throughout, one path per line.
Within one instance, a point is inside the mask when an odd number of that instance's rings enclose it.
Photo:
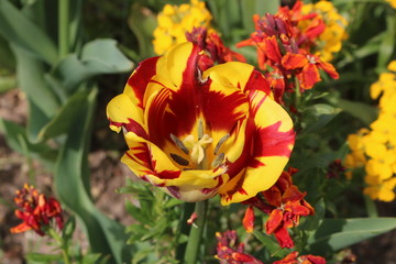
M 102 113 L 101 113 L 102 114 Z M 0 117 L 25 123 L 26 103 L 19 90 L 14 89 L 0 95 Z M 99 114 L 100 118 L 102 118 Z M 108 136 L 107 132 L 99 132 L 99 138 Z M 120 163 L 120 153 L 96 147 L 89 154 L 91 169 L 91 191 L 96 205 L 109 217 L 124 224 L 133 220 L 125 212 L 125 200 L 128 196 L 116 191 L 122 187 L 125 178 L 131 175 L 129 169 Z M 34 179 L 35 187 L 45 194 L 52 194 L 52 175 L 38 163 L 26 161 L 22 155 L 11 151 L 4 136 L 0 134 L 0 263 L 21 264 L 24 263 L 24 254 L 34 250 L 35 252 L 50 252 L 48 241 L 34 234 L 25 232 L 10 234 L 9 229 L 19 224 L 19 219 L 13 215 L 14 191 L 23 187 L 24 183 Z M 396 217 L 396 204 L 378 204 L 381 216 Z M 76 232 L 84 246 L 87 242 L 81 231 Z M 37 242 L 38 241 L 38 242 Z M 396 230 L 364 241 L 352 246 L 350 255 L 355 255 L 359 264 L 396 264 Z M 353 257 L 352 257 L 353 258 Z

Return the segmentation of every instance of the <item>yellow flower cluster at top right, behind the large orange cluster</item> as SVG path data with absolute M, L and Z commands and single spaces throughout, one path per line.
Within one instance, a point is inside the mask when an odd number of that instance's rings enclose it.
M 323 62 L 331 62 L 333 53 L 340 52 L 342 41 L 348 38 L 345 28 L 348 21 L 338 13 L 331 1 L 321 0 L 317 3 L 304 4 L 304 14 L 317 13 L 324 22 L 326 30 L 318 40 L 318 54 Z

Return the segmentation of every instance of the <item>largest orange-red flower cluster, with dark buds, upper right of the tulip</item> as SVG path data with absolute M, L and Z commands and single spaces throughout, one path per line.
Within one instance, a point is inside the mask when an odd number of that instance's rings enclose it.
M 237 44 L 257 47 L 257 62 L 275 94 L 275 99 L 283 102 L 285 91 L 296 89 L 294 77 L 301 91 L 311 89 L 321 80 L 319 69 L 331 78 L 338 79 L 336 68 L 311 53 L 315 40 L 324 31 L 326 24 L 317 20 L 315 13 L 301 14 L 301 2 L 297 1 L 293 9 L 280 8 L 277 14 L 263 18 L 253 16 L 256 31 L 249 40 Z M 309 26 L 301 31 L 297 23 L 311 20 Z

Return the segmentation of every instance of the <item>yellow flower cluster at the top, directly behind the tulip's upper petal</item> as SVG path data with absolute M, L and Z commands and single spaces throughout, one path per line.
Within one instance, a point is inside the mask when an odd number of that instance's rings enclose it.
M 209 28 L 212 19 L 205 2 L 191 0 L 190 4 L 165 4 L 157 15 L 158 26 L 154 30 L 154 52 L 163 55 L 166 51 L 186 42 L 186 32 L 193 28 Z

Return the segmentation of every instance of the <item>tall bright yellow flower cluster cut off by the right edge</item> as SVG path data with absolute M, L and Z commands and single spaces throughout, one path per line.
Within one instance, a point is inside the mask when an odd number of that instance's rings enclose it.
M 383 73 L 371 86 L 371 97 L 380 99 L 380 114 L 371 130 L 362 129 L 349 136 L 351 154 L 345 166 L 364 166 L 364 194 L 372 199 L 392 201 L 396 187 L 396 61 L 388 65 L 393 73 Z

